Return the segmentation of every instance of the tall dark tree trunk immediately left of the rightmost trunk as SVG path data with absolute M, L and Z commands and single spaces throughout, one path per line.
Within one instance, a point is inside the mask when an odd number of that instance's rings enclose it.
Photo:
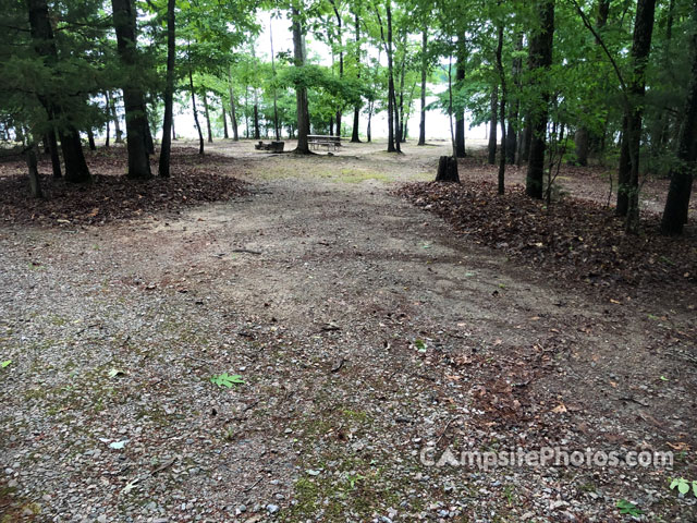
M 628 175 L 626 232 L 637 233 L 639 229 L 639 151 L 641 145 L 641 120 L 644 117 L 644 94 L 646 92 L 646 64 L 651 50 L 656 0 L 638 0 L 634 22 L 632 58 L 634 74 L 629 84 L 631 110 L 627 114 L 627 145 L 632 169 Z M 625 186 L 626 186 L 625 185 Z

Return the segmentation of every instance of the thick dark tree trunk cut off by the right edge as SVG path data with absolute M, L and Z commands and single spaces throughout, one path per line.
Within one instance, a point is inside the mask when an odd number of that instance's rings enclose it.
M 697 24 L 697 1 L 693 2 L 693 23 Z M 685 119 L 680 131 L 677 162 L 671 169 L 671 185 L 665 198 L 661 219 L 663 234 L 681 234 L 687 222 L 689 197 L 697 161 L 697 32 L 693 32 L 693 73 L 687 99 Z

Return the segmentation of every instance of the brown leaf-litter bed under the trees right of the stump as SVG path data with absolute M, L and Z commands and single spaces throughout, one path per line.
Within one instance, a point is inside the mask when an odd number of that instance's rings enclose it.
M 659 234 L 659 217 L 645 216 L 643 233 L 624 233 L 623 220 L 596 203 L 564 198 L 549 208 L 519 185 L 503 196 L 490 182 L 412 183 L 399 193 L 431 210 L 461 234 L 530 265 L 550 277 L 608 285 L 697 283 L 697 238 Z

